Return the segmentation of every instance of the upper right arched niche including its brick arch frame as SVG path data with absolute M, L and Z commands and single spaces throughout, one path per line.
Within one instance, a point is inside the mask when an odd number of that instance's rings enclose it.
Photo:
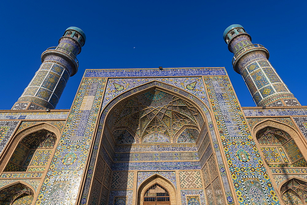
M 266 120 L 255 126 L 254 134 L 268 167 L 307 167 L 305 143 L 292 127 Z

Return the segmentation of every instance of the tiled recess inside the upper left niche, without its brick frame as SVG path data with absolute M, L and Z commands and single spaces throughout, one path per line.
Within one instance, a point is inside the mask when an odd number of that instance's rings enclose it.
M 18 143 L 4 172 L 44 171 L 55 145 L 55 134 L 42 129 Z

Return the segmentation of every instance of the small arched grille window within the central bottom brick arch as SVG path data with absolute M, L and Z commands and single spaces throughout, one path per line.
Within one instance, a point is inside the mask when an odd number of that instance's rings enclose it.
M 145 192 L 144 201 L 169 201 L 169 193 L 160 184 L 154 184 Z

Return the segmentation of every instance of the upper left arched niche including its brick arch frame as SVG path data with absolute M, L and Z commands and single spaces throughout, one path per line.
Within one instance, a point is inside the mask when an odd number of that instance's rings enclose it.
M 21 130 L 6 148 L 3 172 L 45 171 L 59 136 L 60 130 L 46 123 Z

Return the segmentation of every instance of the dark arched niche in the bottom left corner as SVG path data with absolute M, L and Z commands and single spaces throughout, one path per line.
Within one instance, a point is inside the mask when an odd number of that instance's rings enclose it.
M 30 205 L 33 202 L 34 192 L 31 188 L 20 182 L 10 184 L 0 189 L 1 205 Z

